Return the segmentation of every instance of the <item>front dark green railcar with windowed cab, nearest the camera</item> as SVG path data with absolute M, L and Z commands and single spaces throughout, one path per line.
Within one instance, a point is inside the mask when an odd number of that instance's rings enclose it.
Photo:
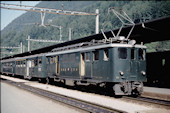
M 68 85 L 109 84 L 116 95 L 141 93 L 145 54 L 143 45 L 80 43 L 46 54 L 47 74 Z

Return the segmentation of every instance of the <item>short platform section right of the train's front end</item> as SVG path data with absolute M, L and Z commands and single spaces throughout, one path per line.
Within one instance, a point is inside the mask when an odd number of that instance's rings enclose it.
M 167 100 L 170 101 L 170 89 L 168 88 L 156 88 L 156 87 L 144 87 L 142 96 Z

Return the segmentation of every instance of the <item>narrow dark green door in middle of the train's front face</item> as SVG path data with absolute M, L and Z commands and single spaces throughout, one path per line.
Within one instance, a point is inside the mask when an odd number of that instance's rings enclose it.
M 131 79 L 137 78 L 137 71 L 138 71 L 137 64 L 138 64 L 138 62 L 136 59 L 136 50 L 135 50 L 135 48 L 131 48 L 131 60 L 130 60 L 130 70 L 131 70 L 130 77 L 131 77 Z

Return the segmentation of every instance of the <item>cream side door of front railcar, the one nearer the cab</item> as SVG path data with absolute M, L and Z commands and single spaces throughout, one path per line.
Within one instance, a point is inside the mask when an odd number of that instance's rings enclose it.
M 84 53 L 80 54 L 80 76 L 85 75 L 85 62 L 84 62 Z

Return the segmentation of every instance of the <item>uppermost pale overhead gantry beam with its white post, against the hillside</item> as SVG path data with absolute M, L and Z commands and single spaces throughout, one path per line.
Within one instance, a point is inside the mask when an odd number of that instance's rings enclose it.
M 0 3 L 0 4 L 1 4 L 0 7 L 4 9 L 41 13 L 41 26 L 44 26 L 44 27 L 45 27 L 44 19 L 45 19 L 46 13 L 60 14 L 60 15 L 94 15 L 96 16 L 96 34 L 99 33 L 99 10 L 98 9 L 96 9 L 96 13 L 87 13 L 87 12 L 64 10 L 63 5 L 62 5 L 62 10 L 57 10 L 57 9 L 41 8 L 41 7 L 27 6 L 27 5 L 21 5 L 21 4 L 20 5 L 6 4 L 6 3 Z

